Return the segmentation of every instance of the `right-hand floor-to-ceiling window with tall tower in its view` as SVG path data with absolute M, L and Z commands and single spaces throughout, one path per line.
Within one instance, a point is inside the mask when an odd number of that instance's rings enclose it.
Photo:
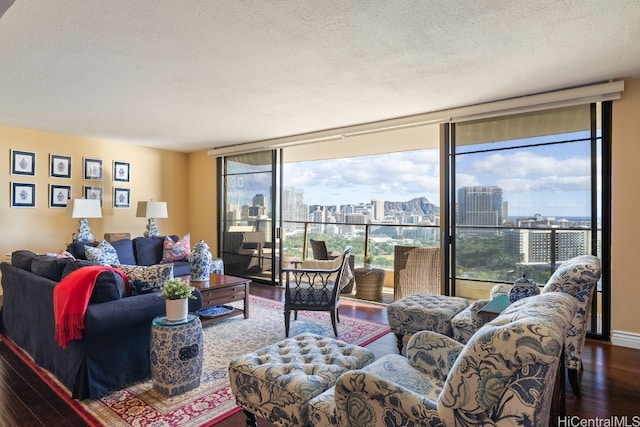
M 455 293 L 522 275 L 544 284 L 561 262 L 603 250 L 608 130 L 600 104 L 452 126 Z M 605 120 L 606 123 L 606 120 Z M 603 167 L 605 165 L 605 167 Z M 606 237 L 606 236 L 605 236 Z M 603 278 L 603 281 L 608 278 Z M 481 286 L 481 285 L 480 285 Z M 592 330 L 602 333 L 602 285 Z

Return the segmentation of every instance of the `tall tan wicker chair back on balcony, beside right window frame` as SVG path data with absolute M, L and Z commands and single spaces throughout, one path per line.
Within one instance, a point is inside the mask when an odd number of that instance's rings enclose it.
M 442 294 L 440 248 L 396 246 L 393 266 L 393 297 L 426 293 Z

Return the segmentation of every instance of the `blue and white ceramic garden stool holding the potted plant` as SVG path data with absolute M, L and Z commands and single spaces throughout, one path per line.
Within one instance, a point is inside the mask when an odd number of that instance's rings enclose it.
M 175 396 L 200 386 L 202 376 L 202 324 L 188 314 L 171 322 L 166 316 L 151 325 L 151 380 L 165 396 Z

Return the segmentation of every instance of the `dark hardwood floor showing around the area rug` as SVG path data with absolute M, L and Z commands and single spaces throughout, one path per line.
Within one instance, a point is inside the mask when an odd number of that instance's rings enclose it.
M 251 293 L 282 299 L 282 289 L 272 286 L 253 284 Z M 387 321 L 383 306 L 372 307 L 351 299 L 342 301 L 340 314 L 376 322 Z M 378 357 L 397 351 L 395 337 L 391 333 L 369 344 L 367 348 L 373 350 Z M 588 341 L 583 361 L 582 398 L 576 399 L 567 383 L 567 416 L 585 420 L 627 416 L 627 425 L 640 425 L 640 350 Z M 587 425 L 579 424 L 576 420 L 572 419 L 572 423 L 564 425 Z M 0 343 L 0 426 L 53 425 L 83 426 L 86 423 L 4 343 Z M 217 424 L 219 427 L 242 425 L 245 425 L 242 412 Z M 273 426 L 262 420 L 259 420 L 259 425 Z

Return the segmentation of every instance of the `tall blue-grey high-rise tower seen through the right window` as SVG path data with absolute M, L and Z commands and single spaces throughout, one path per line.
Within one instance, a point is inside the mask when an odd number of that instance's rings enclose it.
M 458 224 L 502 225 L 505 206 L 502 188 L 495 185 L 461 187 L 458 190 Z

